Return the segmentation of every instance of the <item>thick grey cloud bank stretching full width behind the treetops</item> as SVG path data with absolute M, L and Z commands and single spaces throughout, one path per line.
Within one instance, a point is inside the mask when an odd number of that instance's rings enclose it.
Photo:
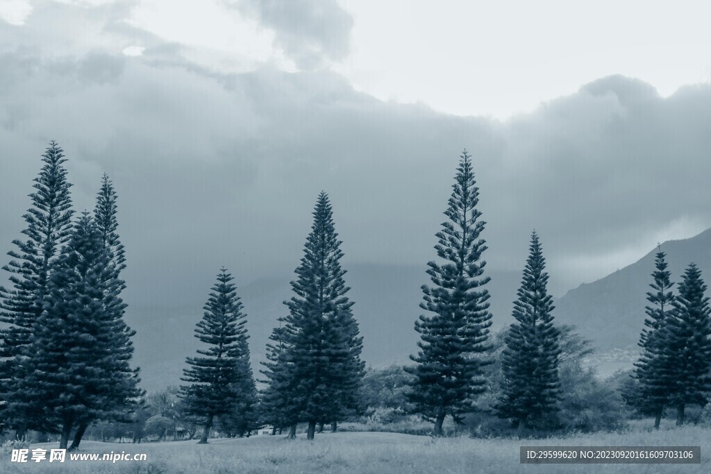
M 0 252 L 56 139 L 77 210 L 103 172 L 116 184 L 129 303 L 201 301 L 220 265 L 240 284 L 288 274 L 321 189 L 346 261 L 424 264 L 464 147 L 489 265 L 519 271 L 535 228 L 557 293 L 711 225 L 709 86 L 664 99 L 606 77 L 508 122 L 451 117 L 328 72 L 211 72 L 125 29 L 117 6 L 82 10 L 95 48 L 62 43 L 47 19 L 70 29 L 72 11 L 47 8 L 0 23 Z M 121 55 L 137 36 L 144 55 Z

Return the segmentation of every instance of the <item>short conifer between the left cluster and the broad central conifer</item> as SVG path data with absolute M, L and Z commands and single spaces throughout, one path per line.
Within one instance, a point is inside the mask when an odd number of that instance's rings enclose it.
M 246 316 L 232 280 L 227 269 L 220 269 L 195 329 L 195 337 L 208 348 L 198 350 L 203 357 L 187 357 L 188 367 L 183 370 L 182 380 L 191 382 L 181 386 L 187 414 L 204 420 L 200 443 L 208 442 L 215 416 L 224 418 L 225 424 L 235 424 L 229 417 L 235 416 L 240 404 L 250 406 L 251 411 L 256 402 Z

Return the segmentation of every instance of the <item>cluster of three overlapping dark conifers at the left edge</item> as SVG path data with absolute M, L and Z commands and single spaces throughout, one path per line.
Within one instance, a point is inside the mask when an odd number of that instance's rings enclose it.
M 129 362 L 134 335 L 123 321 L 124 251 L 116 193 L 107 176 L 94 215 L 73 222 L 71 184 L 54 141 L 42 156 L 25 240 L 14 241 L 0 287 L 0 399 L 5 429 L 60 433 L 77 448 L 87 426 L 125 419 L 142 392 Z

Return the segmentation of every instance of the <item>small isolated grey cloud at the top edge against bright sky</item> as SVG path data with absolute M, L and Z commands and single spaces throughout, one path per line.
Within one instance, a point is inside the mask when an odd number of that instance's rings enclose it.
M 225 0 L 274 30 L 277 47 L 301 70 L 348 53 L 353 18 L 336 0 Z

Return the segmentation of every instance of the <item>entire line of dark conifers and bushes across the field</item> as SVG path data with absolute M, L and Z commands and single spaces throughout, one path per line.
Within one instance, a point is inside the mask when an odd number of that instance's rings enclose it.
M 340 249 L 328 195 L 321 192 L 313 224 L 292 281 L 294 296 L 284 301 L 262 362 L 262 389 L 250 368 L 247 314 L 232 276 L 220 269 L 196 324 L 197 355 L 186 358 L 181 387 L 171 409 L 156 409 L 138 387 L 138 369 L 130 367 L 134 332 L 123 321 L 121 298 L 124 249 L 117 233 L 117 196 L 102 178 L 92 214 L 75 217 L 63 151 L 55 142 L 43 155 L 31 208 L 23 216 L 25 239 L 14 241 L 11 288 L 0 288 L 0 411 L 2 428 L 17 438 L 28 430 L 58 433 L 60 447 L 77 448 L 97 426 L 145 433 L 171 431 L 176 420 L 200 431 L 206 443 L 218 426 L 228 436 L 245 436 L 263 426 L 296 436 L 305 424 L 313 439 L 327 424 L 352 421 L 373 409 L 373 377 L 365 377 L 360 359 L 363 339 L 353 317 L 353 301 L 341 267 Z M 597 390 L 597 399 L 614 399 L 599 387 L 592 370 L 581 365 L 587 343 L 571 328 L 555 323 L 547 291 L 540 236 L 530 235 L 529 254 L 513 303 L 514 323 L 490 333 L 489 277 L 486 275 L 486 222 L 478 210 L 471 157 L 461 155 L 434 249 L 427 264 L 431 284 L 422 286 L 415 322 L 419 351 L 412 365 L 389 373 L 397 387 L 385 397 L 403 414 L 432 422 L 434 434 L 444 421 L 477 423 L 500 419 L 519 436 L 530 430 L 598 426 L 584 420 L 585 410 L 606 411 L 613 426 L 616 409 L 583 406 L 576 390 Z M 711 320 L 706 286 L 690 264 L 674 295 L 665 254 L 657 254 L 648 318 L 641 334 L 641 357 L 624 393 L 613 402 L 656 417 L 706 404 L 711 391 Z M 382 388 L 382 387 L 381 387 Z M 397 388 L 397 389 L 396 389 Z M 385 390 L 383 392 L 383 390 Z M 387 389 L 381 389 L 385 396 Z M 395 397 L 397 393 L 397 397 Z M 395 397 L 394 399 L 390 399 Z M 585 403 L 588 403 L 585 402 Z M 164 406 L 165 408 L 165 406 Z M 387 405 L 387 408 L 396 409 Z M 151 414 L 153 413 L 153 414 Z M 169 430 L 171 424 L 173 427 Z M 586 425 L 587 423 L 587 425 Z M 103 428 L 102 428 L 103 429 Z M 584 429 L 584 428 L 583 428 Z M 73 435 L 73 436 L 72 436 Z M 123 436 L 123 434 L 121 435 Z

